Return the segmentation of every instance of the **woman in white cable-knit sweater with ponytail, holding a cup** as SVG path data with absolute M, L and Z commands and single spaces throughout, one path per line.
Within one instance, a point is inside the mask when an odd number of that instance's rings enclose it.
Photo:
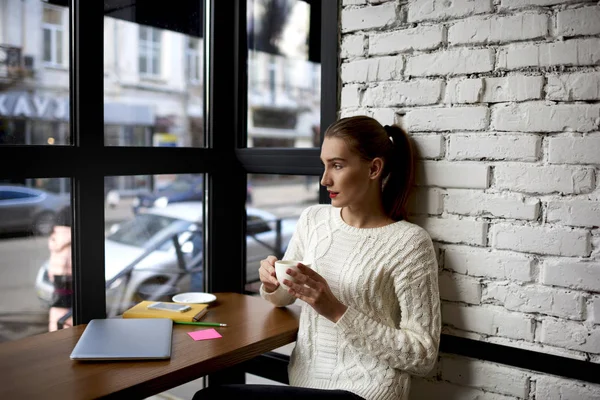
M 366 116 L 325 132 L 321 184 L 331 205 L 304 210 L 284 259 L 303 260 L 296 283 L 260 264 L 261 296 L 283 307 L 301 300 L 290 386 L 209 387 L 210 395 L 252 398 L 407 399 L 411 375 L 437 360 L 438 268 L 429 235 L 406 221 L 414 155 L 398 126 Z

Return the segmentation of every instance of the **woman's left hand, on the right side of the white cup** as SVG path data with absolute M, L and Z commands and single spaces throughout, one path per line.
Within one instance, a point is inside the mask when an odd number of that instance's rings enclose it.
M 309 304 L 331 322 L 337 322 L 348 307 L 333 295 L 325 278 L 302 264 L 298 265 L 298 269 L 300 272 L 287 270 L 296 280 L 296 283 L 288 279 L 283 281 L 289 287 L 288 293 Z

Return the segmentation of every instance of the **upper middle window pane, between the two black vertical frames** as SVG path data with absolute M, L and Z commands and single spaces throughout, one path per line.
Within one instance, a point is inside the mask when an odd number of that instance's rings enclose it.
M 205 146 L 203 7 L 105 6 L 106 146 Z

